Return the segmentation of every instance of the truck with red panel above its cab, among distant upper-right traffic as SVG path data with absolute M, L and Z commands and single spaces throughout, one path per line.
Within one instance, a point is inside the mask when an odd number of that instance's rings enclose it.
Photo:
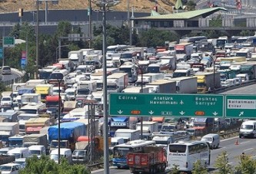
M 188 61 L 190 55 L 193 53 L 193 43 L 184 42 L 180 44 L 175 44 L 175 51 L 177 61 Z

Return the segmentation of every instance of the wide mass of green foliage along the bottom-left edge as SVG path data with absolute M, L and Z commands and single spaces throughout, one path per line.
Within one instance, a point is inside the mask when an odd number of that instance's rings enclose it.
M 69 165 L 67 160 L 62 159 L 62 163 L 58 165 L 54 160 L 49 159 L 49 156 L 42 156 L 38 159 L 37 156 L 26 159 L 25 169 L 22 169 L 20 174 L 88 174 L 90 171 L 82 165 Z

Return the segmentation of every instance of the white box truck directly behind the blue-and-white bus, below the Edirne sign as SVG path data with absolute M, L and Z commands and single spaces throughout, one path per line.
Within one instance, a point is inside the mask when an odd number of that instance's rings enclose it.
M 140 133 L 140 130 L 118 129 L 115 131 L 115 137 L 121 137 L 127 143 L 128 141 L 139 140 Z

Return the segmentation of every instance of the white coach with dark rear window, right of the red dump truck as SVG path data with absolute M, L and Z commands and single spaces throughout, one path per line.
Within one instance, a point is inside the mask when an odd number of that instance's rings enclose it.
M 168 145 L 167 160 L 168 169 L 177 165 L 180 171 L 191 172 L 197 160 L 204 166 L 210 165 L 211 148 L 203 141 L 178 141 Z

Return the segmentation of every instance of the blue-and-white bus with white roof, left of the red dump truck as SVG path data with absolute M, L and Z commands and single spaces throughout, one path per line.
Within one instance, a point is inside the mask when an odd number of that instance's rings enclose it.
M 133 140 L 128 143 L 114 146 L 113 152 L 113 166 L 128 167 L 126 160 L 128 153 L 141 152 L 144 146 L 155 146 L 155 141 L 150 140 Z

